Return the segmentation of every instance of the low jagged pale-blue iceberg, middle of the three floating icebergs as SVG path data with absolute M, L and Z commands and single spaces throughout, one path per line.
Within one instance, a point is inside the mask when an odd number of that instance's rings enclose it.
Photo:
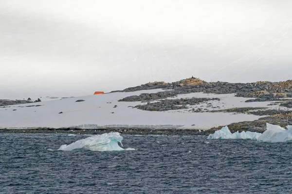
M 210 134 L 207 139 L 257 139 L 261 133 L 242 131 L 231 133 L 227 126 L 215 131 L 214 134 Z

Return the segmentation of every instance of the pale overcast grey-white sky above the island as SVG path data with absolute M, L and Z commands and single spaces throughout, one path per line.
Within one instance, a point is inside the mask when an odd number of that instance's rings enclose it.
M 292 79 L 292 0 L 0 0 L 0 99 Z

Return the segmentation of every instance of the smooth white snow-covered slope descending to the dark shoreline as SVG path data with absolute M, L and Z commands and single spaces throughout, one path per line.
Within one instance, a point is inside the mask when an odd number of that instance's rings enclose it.
M 160 91 L 163 90 L 155 89 L 127 93 L 117 92 L 32 104 L 42 105 L 37 107 L 26 107 L 27 104 L 14 105 L 6 108 L 0 107 L 0 128 L 66 128 L 76 126 L 94 129 L 103 126 L 152 126 L 155 128 L 168 129 L 170 127 L 177 128 L 183 126 L 183 128 L 210 129 L 232 122 L 256 120 L 260 117 L 251 114 L 190 113 L 187 110 L 151 112 L 130 107 L 144 104 L 141 102 L 118 102 L 119 99 L 124 97 Z M 244 100 L 246 100 L 246 98 L 234 97 L 234 95 L 230 94 L 212 95 L 193 93 L 179 95 L 179 97 L 219 97 L 222 99 L 219 102 L 222 104 L 222 109 L 244 106 L 266 106 L 268 103 L 245 103 Z M 83 99 L 85 101 L 75 102 L 78 99 Z M 115 105 L 117 105 L 116 108 L 114 108 Z M 206 107 L 206 104 L 200 104 L 199 106 Z M 193 107 L 194 106 L 192 106 L 192 108 Z

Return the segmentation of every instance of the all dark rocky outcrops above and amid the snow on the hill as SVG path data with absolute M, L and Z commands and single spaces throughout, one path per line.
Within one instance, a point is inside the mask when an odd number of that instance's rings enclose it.
M 146 110 L 146 111 L 168 111 L 168 110 L 186 109 L 188 107 L 185 105 L 192 105 L 192 103 L 185 104 L 185 102 L 189 101 L 188 98 L 176 99 L 175 101 L 169 100 L 166 98 L 176 97 L 177 95 L 180 95 L 180 94 L 189 94 L 189 93 L 195 93 L 195 92 L 214 93 L 214 94 L 236 93 L 236 97 L 256 98 L 256 99 L 246 100 L 246 102 L 275 101 L 275 100 L 281 100 L 281 98 L 284 98 L 284 97 L 292 97 L 292 81 L 282 81 L 282 82 L 258 81 L 255 83 L 228 83 L 228 82 L 219 82 L 219 81 L 206 82 L 206 81 L 202 81 L 198 78 L 193 78 L 193 77 L 185 79 L 185 80 L 173 82 L 173 83 L 165 83 L 163 81 L 151 82 L 151 83 L 147 83 L 141 86 L 127 88 L 123 90 L 123 92 L 132 92 L 132 91 L 137 91 L 137 90 L 149 90 L 149 89 L 157 89 L 157 88 L 163 88 L 165 89 L 165 91 L 158 92 L 158 93 L 151 93 L 151 94 L 141 94 L 139 96 L 129 96 L 129 97 L 120 99 L 119 101 L 147 102 L 146 105 L 138 105 L 135 108 Z M 153 100 L 160 100 L 160 101 L 151 103 L 151 101 Z M 194 100 L 194 98 L 192 98 L 192 100 Z M 177 106 L 177 105 L 182 105 L 182 106 Z M 280 106 L 291 108 L 292 102 L 284 102 Z M 194 112 L 201 112 L 201 110 L 198 109 Z M 215 112 L 230 112 L 230 110 L 215 111 Z M 255 115 L 272 115 L 274 113 L 290 113 L 287 111 L 277 111 L 277 110 L 248 112 L 246 111 L 246 108 L 240 111 L 238 111 L 237 109 L 235 111 L 235 113 L 238 113 L 238 112 L 252 113 Z

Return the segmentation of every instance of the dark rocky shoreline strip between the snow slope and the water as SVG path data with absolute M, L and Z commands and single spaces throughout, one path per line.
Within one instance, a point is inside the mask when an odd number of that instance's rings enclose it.
M 266 123 L 279 125 L 286 128 L 292 125 L 292 113 L 273 114 L 262 117 L 254 121 L 243 121 L 231 123 L 228 126 L 231 132 L 252 131 L 262 133 L 266 129 Z M 65 134 L 91 134 L 97 135 L 109 132 L 119 132 L 127 135 L 209 135 L 224 126 L 211 128 L 208 130 L 197 129 L 154 129 L 154 128 L 137 128 L 137 127 L 108 127 L 100 129 L 75 129 L 75 128 L 39 128 L 39 129 L 0 129 L 0 133 L 65 133 Z

